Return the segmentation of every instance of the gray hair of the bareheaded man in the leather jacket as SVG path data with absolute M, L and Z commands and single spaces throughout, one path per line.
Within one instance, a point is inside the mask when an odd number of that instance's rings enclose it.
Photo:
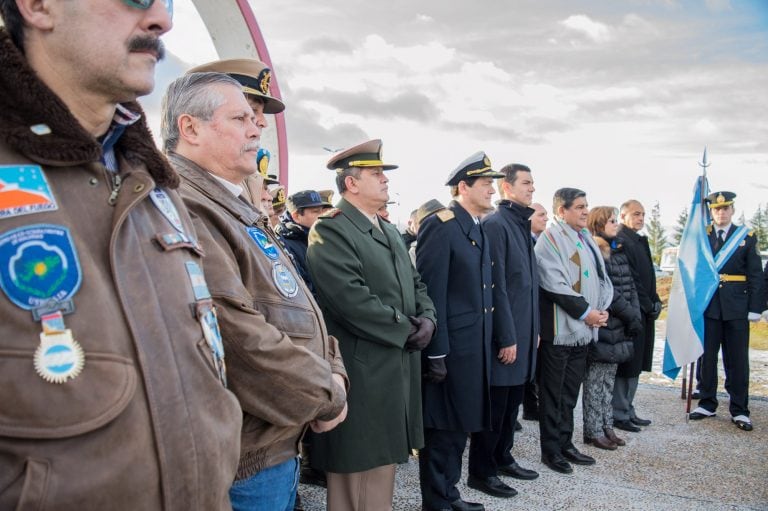
M 160 134 L 163 150 L 173 151 L 179 144 L 179 116 L 188 114 L 210 121 L 213 112 L 224 104 L 224 96 L 214 86 L 228 84 L 242 90 L 242 85 L 223 73 L 190 73 L 177 78 L 163 96 Z

